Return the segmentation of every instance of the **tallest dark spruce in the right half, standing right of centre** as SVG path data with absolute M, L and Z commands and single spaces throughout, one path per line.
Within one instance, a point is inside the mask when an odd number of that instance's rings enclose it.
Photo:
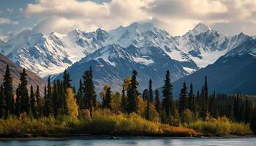
M 170 72 L 167 70 L 165 75 L 165 85 L 162 87 L 163 101 L 162 105 L 165 110 L 166 118 L 170 118 L 175 115 L 176 107 L 173 102 L 173 85 L 170 83 Z

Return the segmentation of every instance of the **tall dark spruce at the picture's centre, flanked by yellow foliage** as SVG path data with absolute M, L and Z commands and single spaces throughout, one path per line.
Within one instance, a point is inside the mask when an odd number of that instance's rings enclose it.
M 138 112 L 138 101 L 137 97 L 139 95 L 138 92 L 138 81 L 137 81 L 137 74 L 135 70 L 132 71 L 132 80 L 131 84 L 129 85 L 129 89 L 127 91 L 127 96 L 128 96 L 128 104 L 127 104 L 127 112 L 132 113 L 132 112 Z

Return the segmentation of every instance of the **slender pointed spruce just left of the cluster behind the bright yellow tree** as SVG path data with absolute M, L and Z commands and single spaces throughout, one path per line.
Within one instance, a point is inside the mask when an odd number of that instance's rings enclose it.
M 46 91 L 46 90 L 45 90 Z M 48 88 L 47 93 L 45 96 L 45 107 L 44 107 L 45 116 L 53 115 L 54 109 L 53 109 L 53 94 L 52 94 L 52 88 L 50 85 L 50 77 L 48 77 Z

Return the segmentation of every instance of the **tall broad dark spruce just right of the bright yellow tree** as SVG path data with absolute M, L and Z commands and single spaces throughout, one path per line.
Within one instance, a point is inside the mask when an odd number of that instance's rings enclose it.
M 83 102 L 86 109 L 89 109 L 90 112 L 96 107 L 96 93 L 94 91 L 92 78 L 93 72 L 90 67 L 90 69 L 86 70 L 83 74 Z

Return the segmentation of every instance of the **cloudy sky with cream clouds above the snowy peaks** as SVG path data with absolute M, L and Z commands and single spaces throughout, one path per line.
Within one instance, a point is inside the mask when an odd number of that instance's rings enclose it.
M 197 23 L 222 34 L 256 35 L 255 0 L 0 0 L 0 39 L 24 29 L 67 33 L 153 23 L 183 35 Z

